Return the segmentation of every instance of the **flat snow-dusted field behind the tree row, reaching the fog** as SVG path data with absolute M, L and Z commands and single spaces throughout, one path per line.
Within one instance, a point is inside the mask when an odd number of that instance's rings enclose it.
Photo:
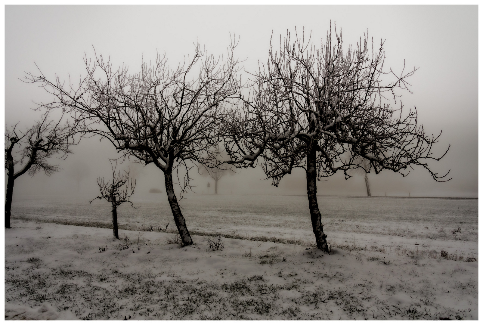
M 110 226 L 108 202 L 80 196 L 14 198 L 14 218 Z M 119 227 L 142 230 L 151 226 L 176 231 L 165 194 L 132 197 L 118 208 Z M 304 196 L 191 195 L 181 201 L 188 229 L 245 237 L 313 240 Z M 359 234 L 411 239 L 456 239 L 478 242 L 478 200 L 419 198 L 319 197 L 324 230 L 329 239 L 352 240 Z M 460 232 L 452 230 L 461 227 Z M 343 233 L 342 237 L 338 236 Z M 344 237 L 345 236 L 345 237 Z

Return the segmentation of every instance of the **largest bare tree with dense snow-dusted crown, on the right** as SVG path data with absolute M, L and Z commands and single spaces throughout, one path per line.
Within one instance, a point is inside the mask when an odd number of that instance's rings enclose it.
M 268 62 L 254 74 L 244 110 L 225 117 L 224 141 L 229 163 L 254 167 L 261 157 L 275 186 L 294 168 L 305 170 L 317 248 L 328 251 L 317 180 L 340 170 L 350 177 L 349 169 L 364 168 L 355 161 L 362 156 L 376 173 L 388 169 L 405 176 L 407 167 L 422 166 L 442 181 L 447 174 L 439 177 L 426 161 L 445 153 L 433 156 L 439 136 L 425 134 L 415 109 L 391 107 L 389 99 L 397 103 L 396 91 L 407 89 L 416 69 L 384 71 L 384 42 L 371 46 L 365 34 L 355 48 L 343 49 L 341 32 L 332 27 L 318 49 L 305 33 L 298 37 L 296 31 L 294 42 L 290 36 L 280 38 L 278 51 L 270 42 Z

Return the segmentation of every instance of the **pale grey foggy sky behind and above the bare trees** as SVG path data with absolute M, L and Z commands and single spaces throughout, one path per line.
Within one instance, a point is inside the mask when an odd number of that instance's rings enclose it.
M 443 130 L 435 155 L 451 149 L 430 166 L 453 180 L 436 183 L 424 169 L 408 177 L 391 171 L 370 174 L 374 196 L 478 196 L 478 7 L 477 6 L 5 6 L 5 122 L 8 126 L 32 123 L 39 115 L 31 111 L 32 100 L 48 102 L 42 88 L 23 83 L 24 71 L 35 73 L 34 62 L 47 78 L 60 80 L 85 75 L 84 53 L 110 56 L 114 67 L 126 63 L 135 73 L 145 61 L 166 53 L 175 67 L 192 55 L 193 43 L 204 44 L 209 54 L 226 54 L 230 32 L 240 37 L 235 55 L 246 59 L 248 71 L 257 61 L 267 60 L 270 36 L 275 40 L 295 27 L 312 30 L 312 42 L 320 45 L 330 20 L 342 28 L 344 47 L 355 44 L 368 30 L 375 45 L 385 39 L 385 67 L 400 72 L 419 70 L 409 79 L 411 91 L 403 93 L 406 108 L 416 106 L 418 122 L 429 134 Z M 277 44 L 277 42 L 275 42 Z M 405 61 L 404 61 L 405 60 Z M 27 174 L 15 182 L 15 194 L 75 192 L 72 170 L 86 165 L 80 182 L 82 192 L 96 191 L 96 178 L 108 176 L 108 158 L 119 156 L 107 141 L 89 139 L 73 148 L 74 154 L 60 161 L 62 171 L 51 177 Z M 139 166 L 141 167 L 141 165 Z M 260 181 L 260 168 L 239 170 L 224 176 L 219 192 L 225 194 L 306 193 L 302 169 L 284 177 L 279 188 L 270 180 Z M 164 180 L 155 166 L 138 172 L 137 189 L 147 192 Z M 192 174 L 197 193 L 207 193 L 214 182 Z M 318 183 L 318 194 L 365 195 L 364 178 L 348 181 L 343 174 Z M 94 197 L 97 194 L 94 194 Z

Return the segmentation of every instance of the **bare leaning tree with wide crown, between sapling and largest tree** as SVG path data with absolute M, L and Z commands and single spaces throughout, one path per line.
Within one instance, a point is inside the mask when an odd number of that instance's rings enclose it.
M 164 173 L 166 194 L 174 221 L 185 245 L 193 240 L 174 194 L 173 175 L 181 186 L 181 198 L 190 189 L 186 161 L 209 164 L 216 155 L 215 118 L 238 92 L 238 61 L 231 43 L 226 58 L 208 56 L 196 45 L 193 57 L 170 69 L 166 57 L 154 66 L 142 64 L 131 75 L 122 66 L 113 70 L 109 60 L 85 57 L 87 75 L 78 85 L 64 85 L 28 74 L 28 82 L 40 83 L 57 100 L 51 105 L 69 109 L 85 123 L 85 132 L 111 141 L 115 148 L 137 162 L 155 164 Z M 184 177 L 180 181 L 178 173 Z

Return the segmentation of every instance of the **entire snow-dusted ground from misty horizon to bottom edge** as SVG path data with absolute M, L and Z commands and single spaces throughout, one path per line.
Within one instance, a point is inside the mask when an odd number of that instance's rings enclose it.
M 182 247 L 163 194 L 121 206 L 122 240 L 107 202 L 16 198 L 5 319 L 478 319 L 478 200 L 320 197 L 325 255 L 306 200 L 189 196 Z

